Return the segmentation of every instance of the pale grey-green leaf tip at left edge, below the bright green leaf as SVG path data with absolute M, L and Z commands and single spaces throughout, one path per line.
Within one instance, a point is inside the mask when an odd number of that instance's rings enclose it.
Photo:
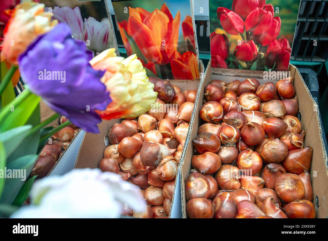
M 7 157 L 15 151 L 31 128 L 32 125 L 23 125 L 0 133 L 0 141 L 2 141 L 5 146 Z

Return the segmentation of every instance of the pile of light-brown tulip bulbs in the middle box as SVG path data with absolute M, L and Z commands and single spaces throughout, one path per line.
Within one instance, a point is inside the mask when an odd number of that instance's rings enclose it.
M 112 126 L 108 135 L 111 145 L 105 149 L 99 168 L 140 187 L 147 211 L 127 209 L 123 215 L 168 218 L 196 90 L 181 93 L 168 81 L 152 77 L 150 81 L 154 81 L 158 92 L 154 106 L 137 119 L 124 119 Z

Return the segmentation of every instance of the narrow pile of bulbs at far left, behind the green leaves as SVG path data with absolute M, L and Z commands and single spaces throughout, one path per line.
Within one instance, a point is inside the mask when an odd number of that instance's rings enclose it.
M 61 116 L 58 120 L 59 124 L 63 124 L 66 121 L 68 121 L 68 119 L 65 116 Z M 79 129 L 80 128 L 76 127 L 74 124 L 70 124 L 55 133 L 43 147 L 30 176 L 38 175 L 37 178 L 47 176 Z

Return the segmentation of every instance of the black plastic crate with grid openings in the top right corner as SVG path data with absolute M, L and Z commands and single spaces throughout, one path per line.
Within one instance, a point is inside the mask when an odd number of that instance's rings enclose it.
M 328 0 L 301 0 L 291 59 L 325 62 L 328 58 Z

